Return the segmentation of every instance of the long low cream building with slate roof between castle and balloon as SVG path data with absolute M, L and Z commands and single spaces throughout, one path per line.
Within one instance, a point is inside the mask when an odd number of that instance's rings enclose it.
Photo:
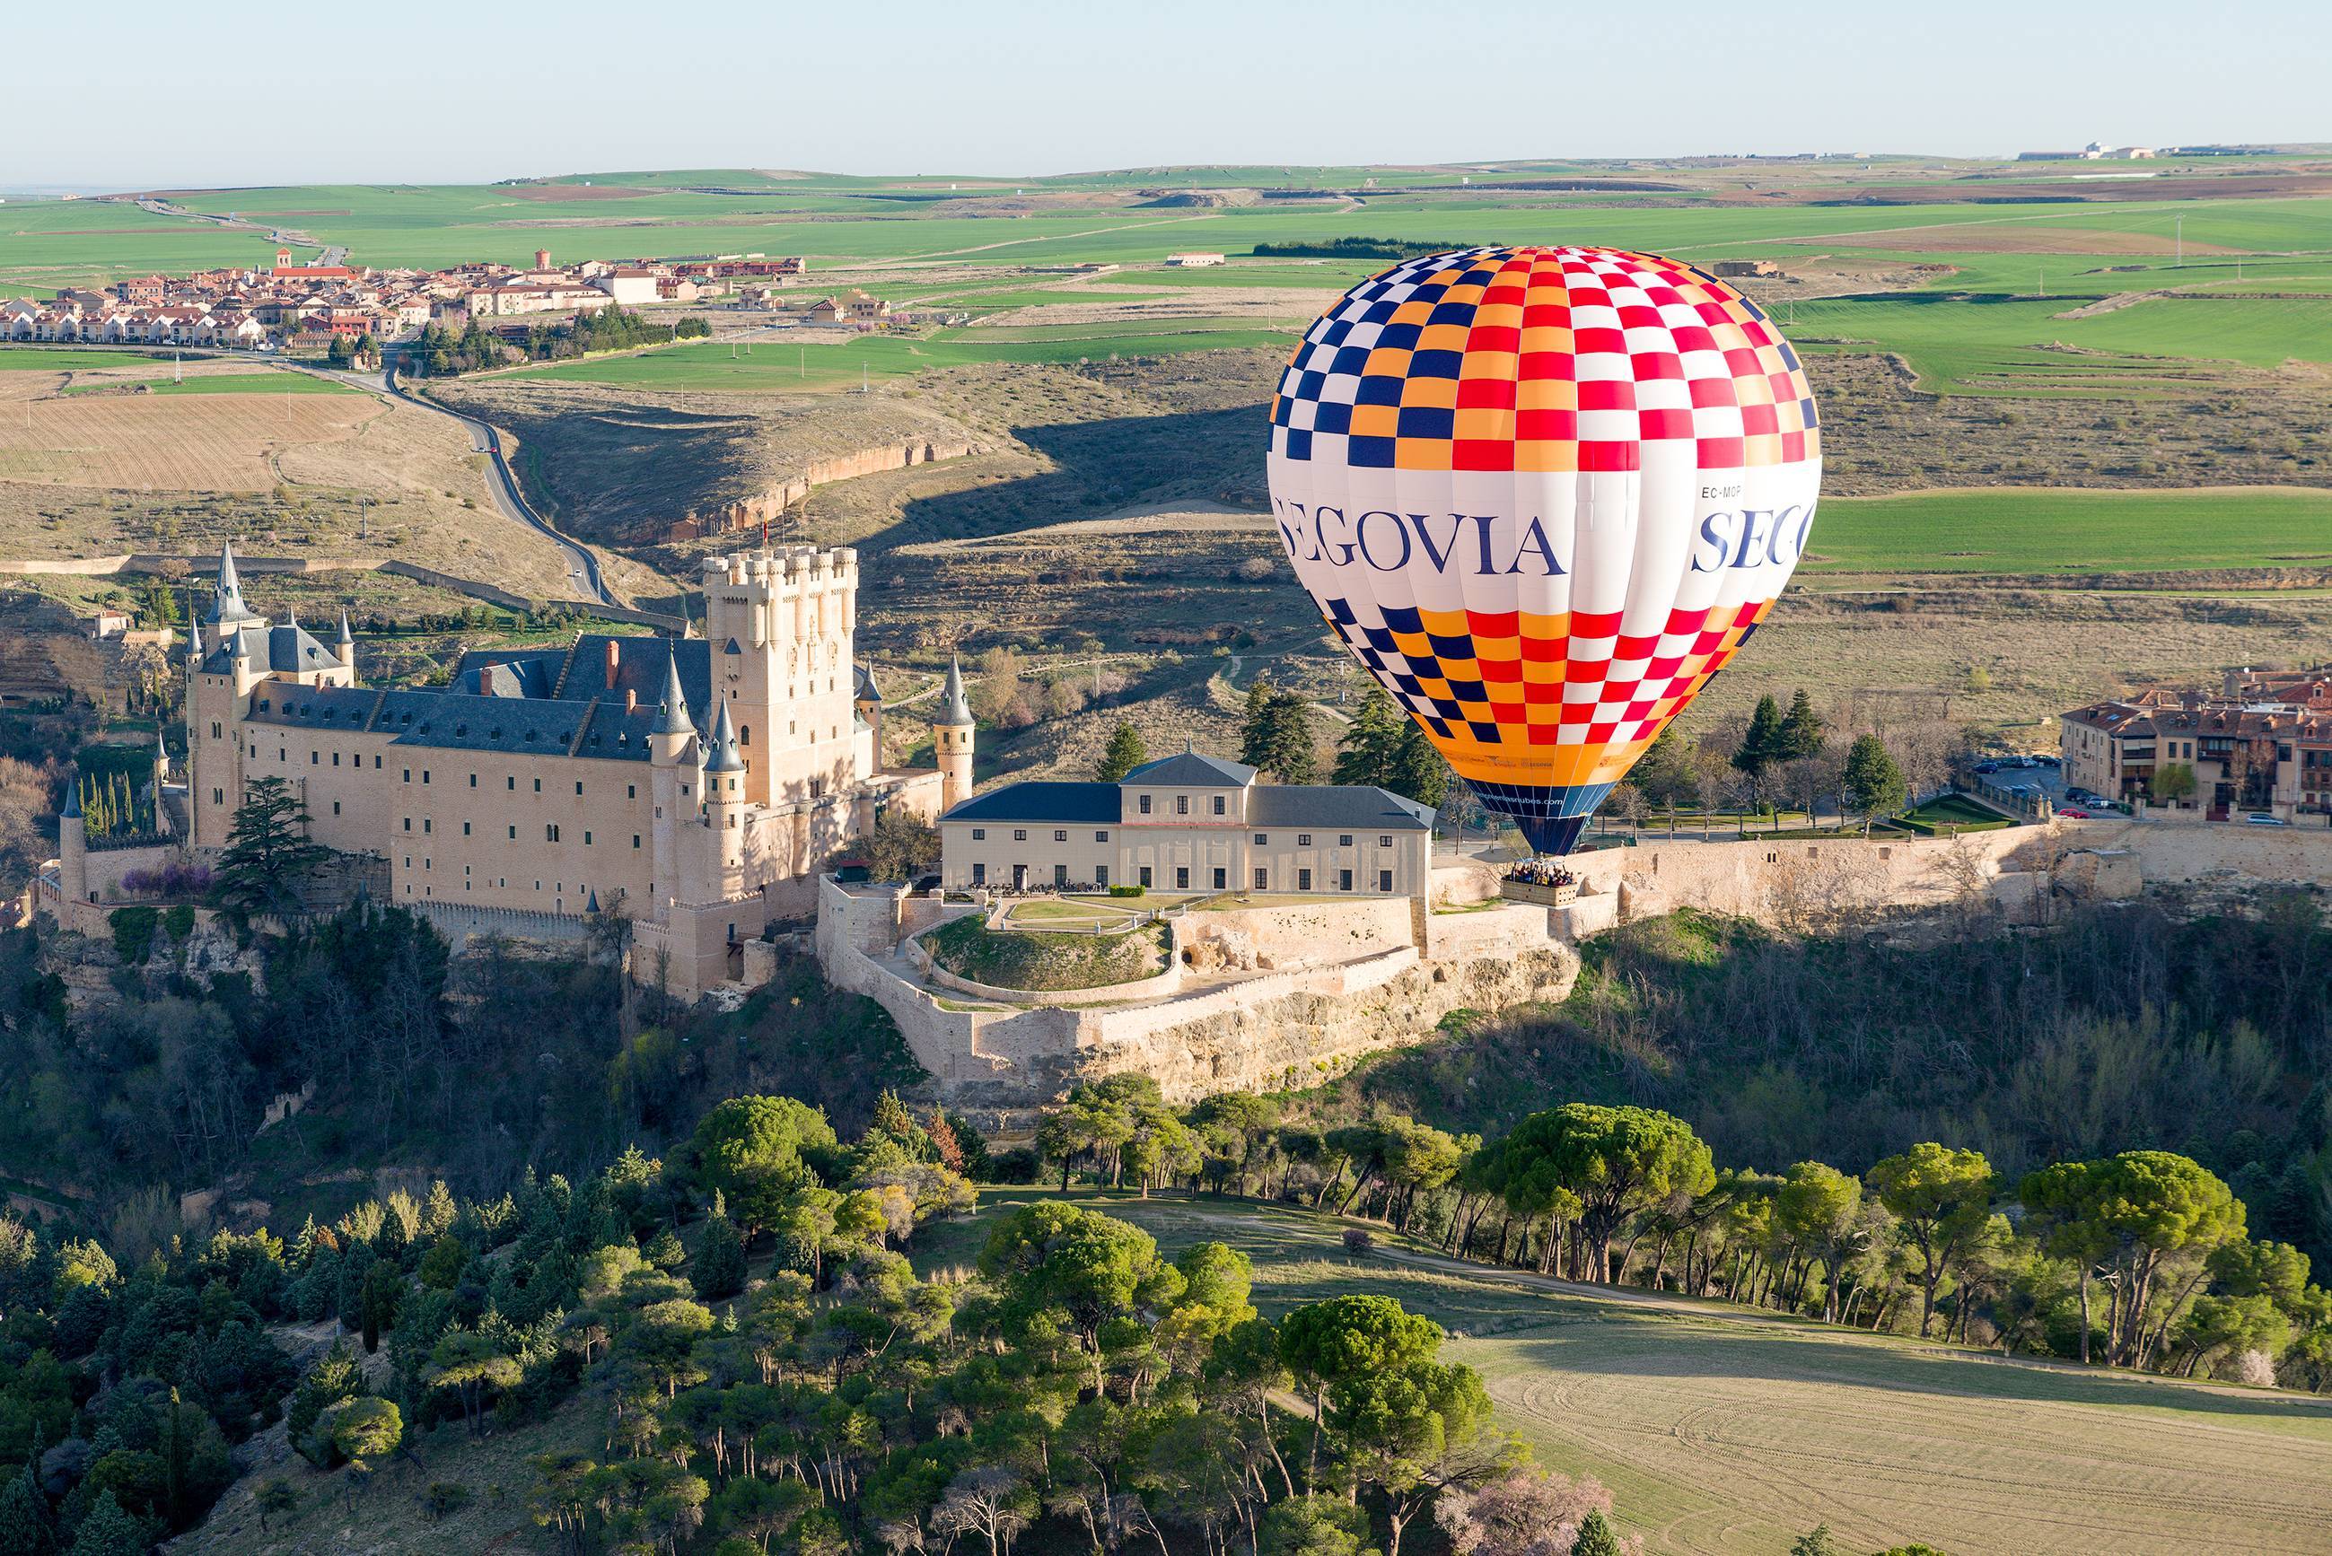
M 1432 807 L 1385 788 L 1259 784 L 1255 768 L 1185 751 L 1117 784 L 1019 781 L 949 805 L 940 877 L 949 891 L 1147 886 L 1423 900 L 1432 826 Z

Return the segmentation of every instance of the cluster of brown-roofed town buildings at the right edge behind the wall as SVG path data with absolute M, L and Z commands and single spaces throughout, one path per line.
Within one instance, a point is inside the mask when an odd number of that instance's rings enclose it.
M 2215 693 L 2075 707 L 2059 716 L 2059 749 L 2066 784 L 2110 800 L 2211 821 L 2332 819 L 2332 667 L 2234 670 Z

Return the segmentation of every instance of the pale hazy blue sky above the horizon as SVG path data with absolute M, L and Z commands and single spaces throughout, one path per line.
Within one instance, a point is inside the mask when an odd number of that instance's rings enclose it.
M 0 187 L 2332 140 L 2325 0 L 2225 19 L 2192 0 L 114 0 L 103 19 L 103 68 L 7 72 Z

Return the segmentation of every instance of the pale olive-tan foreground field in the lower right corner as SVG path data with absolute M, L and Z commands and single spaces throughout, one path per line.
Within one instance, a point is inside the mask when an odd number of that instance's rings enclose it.
M 1038 1197 L 986 1190 L 975 1220 L 916 1239 L 916 1262 L 972 1262 L 986 1225 Z M 1653 1554 L 1772 1556 L 1821 1521 L 1845 1549 L 1924 1540 L 1954 1556 L 2297 1554 L 2332 1537 L 2332 1402 L 1350 1260 L 1334 1218 L 1236 1199 L 1075 1199 L 1168 1253 L 1241 1248 L 1269 1316 L 1341 1292 L 1430 1313 L 1502 1423 L 1539 1463 L 1604 1481 Z

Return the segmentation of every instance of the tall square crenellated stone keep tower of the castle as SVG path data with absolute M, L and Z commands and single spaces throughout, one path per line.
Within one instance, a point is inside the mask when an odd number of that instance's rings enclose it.
M 856 628 L 856 551 L 781 546 L 704 560 L 714 695 L 735 705 L 751 805 L 823 800 L 849 786 Z

